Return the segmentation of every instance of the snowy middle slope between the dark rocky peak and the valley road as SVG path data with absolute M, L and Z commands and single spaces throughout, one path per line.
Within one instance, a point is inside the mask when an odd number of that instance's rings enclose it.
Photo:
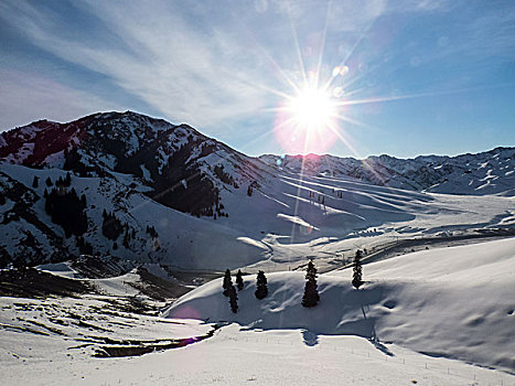
M 43 181 L 64 178 L 66 172 L 3 164 L 2 173 L 0 184 L 9 193 L 0 207 L 4 261 L 41 264 L 78 256 L 75 237 L 66 238 L 44 212 Z M 41 181 L 36 189 L 31 185 L 34 175 Z M 296 264 L 305 256 L 347 255 L 391 237 L 512 227 L 515 223 L 512 197 L 431 195 L 337 178 L 278 174 L 251 196 L 243 189 L 224 190 L 221 196 L 229 217 L 217 219 L 197 218 L 149 200 L 148 187 L 128 174 L 74 175 L 72 186 L 87 197 L 84 238 L 95 251 L 182 268 Z M 133 230 L 128 246 L 122 234 L 117 248 L 103 235 L 104 210 L 116 213 Z M 155 228 L 157 237 L 146 232 L 148 226 Z M 366 238 L 360 238 L 363 235 Z

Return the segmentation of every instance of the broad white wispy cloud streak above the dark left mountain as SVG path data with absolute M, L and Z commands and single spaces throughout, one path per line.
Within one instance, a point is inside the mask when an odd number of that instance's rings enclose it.
M 221 30 L 184 22 L 167 2 L 83 4 L 122 40 L 125 46 L 77 40 L 52 28 L 60 15 L 14 4 L 15 23 L 41 49 L 109 76 L 117 85 L 174 121 L 219 125 L 266 106 L 264 58 Z M 130 47 L 130 50 L 127 50 Z

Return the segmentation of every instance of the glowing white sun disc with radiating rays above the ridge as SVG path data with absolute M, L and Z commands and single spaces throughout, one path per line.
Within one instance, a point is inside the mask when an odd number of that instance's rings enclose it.
M 336 106 L 331 96 L 316 87 L 305 87 L 287 105 L 291 119 L 305 130 L 320 130 L 332 124 Z

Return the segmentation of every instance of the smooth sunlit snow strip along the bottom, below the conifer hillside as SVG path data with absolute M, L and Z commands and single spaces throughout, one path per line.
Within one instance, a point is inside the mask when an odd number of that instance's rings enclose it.
M 183 322 L 185 329 L 195 328 Z M 169 334 L 178 328 L 170 323 Z M 19 333 L 7 334 L 9 343 L 20 339 Z M 42 341 L 35 335 L 31 347 L 44 346 Z M 45 343 L 46 355 L 19 345 L 8 351 L 8 361 L 1 362 L 3 384 L 32 385 L 37 379 L 39 385 L 504 386 L 515 380 L 515 376 L 498 371 L 395 345 L 388 345 L 390 355 L 385 355 L 364 339 L 297 330 L 256 332 L 229 325 L 200 343 L 129 358 L 90 358 L 78 350 L 65 357 L 57 354 L 57 344 Z

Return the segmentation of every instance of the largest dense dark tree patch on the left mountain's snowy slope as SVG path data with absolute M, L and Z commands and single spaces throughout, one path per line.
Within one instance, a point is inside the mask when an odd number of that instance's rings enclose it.
M 87 230 L 86 196 L 78 197 L 75 189 L 45 189 L 45 212 L 52 222 L 63 227 L 65 236 L 81 236 Z

